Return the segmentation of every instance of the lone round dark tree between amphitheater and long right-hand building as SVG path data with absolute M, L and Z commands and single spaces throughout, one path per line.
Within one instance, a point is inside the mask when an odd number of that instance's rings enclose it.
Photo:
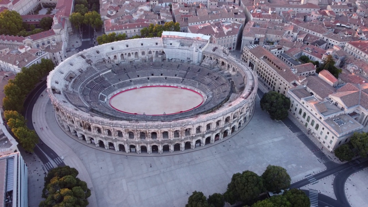
M 266 110 L 271 119 L 283 120 L 289 115 L 287 110 L 290 108 L 290 99 L 276 91 L 264 94 L 260 104 L 261 109 Z

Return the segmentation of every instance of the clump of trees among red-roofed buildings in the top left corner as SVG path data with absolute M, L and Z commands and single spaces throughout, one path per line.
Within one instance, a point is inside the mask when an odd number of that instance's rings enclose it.
M 53 19 L 44 17 L 40 21 L 41 28 L 27 25 L 16 11 L 4 10 L 0 13 L 0 35 L 29 36 L 51 29 Z

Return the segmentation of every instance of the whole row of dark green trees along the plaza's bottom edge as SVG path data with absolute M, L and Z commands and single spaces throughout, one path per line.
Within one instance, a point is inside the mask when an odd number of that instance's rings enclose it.
M 230 204 L 242 201 L 244 204 L 253 205 L 254 207 L 266 206 L 263 203 L 275 203 L 275 206 L 309 207 L 309 198 L 303 191 L 298 189 L 286 190 L 290 187 L 290 182 L 291 178 L 286 169 L 280 166 L 268 165 L 261 176 L 252 171 L 235 173 L 223 195 L 215 193 L 206 199 L 202 192 L 193 192 L 185 207 L 223 207 L 224 201 Z M 280 193 L 282 190 L 285 191 L 280 196 L 274 196 L 272 199 L 255 203 L 262 193 L 267 191 Z

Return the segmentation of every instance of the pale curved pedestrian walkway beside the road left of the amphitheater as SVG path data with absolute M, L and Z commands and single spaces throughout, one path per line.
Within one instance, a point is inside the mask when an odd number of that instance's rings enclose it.
M 87 172 L 87 169 L 85 168 L 81 160 L 78 158 L 78 156 L 74 153 L 74 151 L 72 151 L 71 148 L 68 145 L 66 145 L 63 141 L 61 141 L 60 139 L 61 137 L 58 137 L 57 135 L 52 133 L 52 131 L 50 130 L 50 126 L 45 121 L 46 104 L 49 101 L 49 96 L 47 95 L 46 92 L 43 92 L 42 95 L 43 95 L 42 98 L 39 98 L 36 101 L 32 112 L 32 120 L 33 122 L 35 122 L 33 126 L 36 130 L 36 133 L 43 141 L 43 143 L 45 143 L 52 150 L 54 150 L 57 155 L 63 156 L 64 158 L 63 160 L 61 159 L 61 157 L 58 157 L 53 159 L 54 162 L 58 164 L 61 161 L 64 161 L 66 165 L 78 170 L 79 172 L 78 178 L 84 180 L 87 183 L 89 189 L 91 189 L 91 197 L 88 198 L 89 201 L 88 207 L 97 207 L 95 190 L 93 189 L 92 180 Z M 52 164 L 48 162 L 47 165 L 45 165 L 45 167 L 46 169 L 47 168 L 51 169 Z

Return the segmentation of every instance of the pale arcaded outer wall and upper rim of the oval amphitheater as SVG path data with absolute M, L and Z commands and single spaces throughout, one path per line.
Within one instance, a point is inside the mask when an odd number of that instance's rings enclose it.
M 112 50 L 112 48 L 114 49 Z M 70 74 L 75 74 L 78 78 L 78 73 L 81 73 L 90 64 L 93 65 L 102 59 L 114 60 L 114 56 L 120 57 L 120 54 L 123 56 L 118 61 L 119 64 L 123 64 L 127 60 L 124 54 L 127 52 L 133 54 L 136 50 L 138 56 L 135 57 L 135 61 L 162 62 L 174 58 L 184 62 L 190 59 L 191 64 L 202 63 L 202 66 L 207 66 L 203 60 L 216 62 L 216 66 L 220 70 L 226 71 L 227 74 L 231 74 L 232 78 L 235 78 L 236 74 L 241 74 L 244 77 L 241 79 L 244 86 L 242 90 L 233 91 L 227 102 L 220 106 L 216 105 L 216 108 L 209 113 L 194 113 L 192 116 L 177 117 L 177 119 L 165 121 L 107 119 L 79 110 L 78 106 L 66 101 L 68 100 L 66 90 L 74 90 L 68 88 L 71 85 L 70 82 L 75 81 L 67 80 Z M 144 50 L 160 51 L 160 55 L 155 55 L 155 52 L 148 53 L 148 51 L 145 54 L 151 55 L 141 55 L 141 51 Z M 83 62 L 79 60 L 81 56 L 90 59 Z M 95 59 L 93 59 L 94 57 Z M 117 64 L 117 62 L 114 63 Z M 213 69 L 213 67 L 209 68 Z M 85 140 L 86 143 L 95 144 L 96 147 L 105 147 L 115 151 L 151 154 L 153 152 L 184 151 L 204 146 L 222 140 L 237 131 L 238 127 L 241 127 L 249 119 L 254 109 L 257 91 L 255 77 L 254 72 L 245 64 L 229 55 L 229 50 L 209 43 L 209 36 L 163 32 L 162 38 L 132 39 L 84 50 L 66 59 L 50 73 L 47 78 L 47 90 L 55 108 L 57 120 L 79 140 Z M 181 84 L 177 85 L 179 87 Z M 191 85 L 190 87 L 195 88 L 196 86 Z

